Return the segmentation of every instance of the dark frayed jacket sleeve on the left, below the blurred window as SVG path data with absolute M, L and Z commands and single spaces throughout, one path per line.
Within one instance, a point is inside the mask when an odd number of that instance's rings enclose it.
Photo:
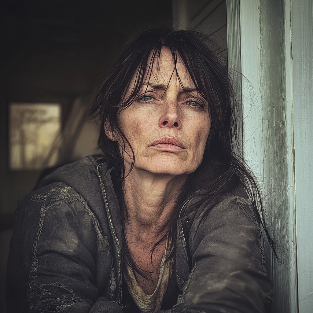
M 99 297 L 111 268 L 108 242 L 72 188 L 55 183 L 20 201 L 8 259 L 8 312 L 122 312 Z

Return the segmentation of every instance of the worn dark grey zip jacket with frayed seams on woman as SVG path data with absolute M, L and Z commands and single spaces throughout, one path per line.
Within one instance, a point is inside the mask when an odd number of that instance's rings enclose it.
M 123 225 L 105 159 L 60 167 L 19 200 L 8 259 L 8 312 L 122 312 Z M 264 312 L 271 283 L 243 188 L 186 202 L 177 221 L 170 312 Z M 198 204 L 197 204 L 198 203 Z

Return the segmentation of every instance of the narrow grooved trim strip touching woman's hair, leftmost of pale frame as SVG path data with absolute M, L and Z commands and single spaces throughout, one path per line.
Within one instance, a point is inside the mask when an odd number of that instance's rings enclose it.
M 228 73 L 233 81 L 237 100 L 236 111 L 238 144 L 237 152 L 243 155 L 243 120 L 242 120 L 242 82 L 241 82 L 241 36 L 240 36 L 240 1 L 227 0 L 227 53 Z

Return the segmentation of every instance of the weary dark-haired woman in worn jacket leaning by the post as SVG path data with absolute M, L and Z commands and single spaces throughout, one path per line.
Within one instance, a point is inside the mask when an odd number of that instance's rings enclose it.
M 262 206 L 208 44 L 148 28 L 125 45 L 92 111 L 105 158 L 61 167 L 20 200 L 9 312 L 266 310 Z

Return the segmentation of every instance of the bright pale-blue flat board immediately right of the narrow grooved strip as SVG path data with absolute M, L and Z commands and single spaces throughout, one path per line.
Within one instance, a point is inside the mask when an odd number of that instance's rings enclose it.
M 256 177 L 264 177 L 260 93 L 259 1 L 240 0 L 242 114 L 244 160 Z

